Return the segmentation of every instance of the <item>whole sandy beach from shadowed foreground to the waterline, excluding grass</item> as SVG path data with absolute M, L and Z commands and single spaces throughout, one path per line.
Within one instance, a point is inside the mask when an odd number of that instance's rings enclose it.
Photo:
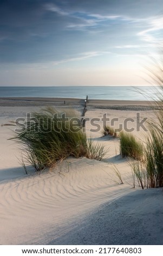
M 73 98 L 0 98 L 1 245 L 162 245 L 162 189 L 133 188 L 132 160 L 120 156 L 120 138 L 102 136 L 107 117 L 144 143 L 148 120 L 156 120 L 154 102 L 88 99 L 85 131 L 108 150 L 104 159 L 69 157 L 41 173 L 27 166 L 25 174 L 19 145 L 9 140 L 15 126 L 6 124 L 45 106 L 72 109 L 81 118 L 84 104 Z

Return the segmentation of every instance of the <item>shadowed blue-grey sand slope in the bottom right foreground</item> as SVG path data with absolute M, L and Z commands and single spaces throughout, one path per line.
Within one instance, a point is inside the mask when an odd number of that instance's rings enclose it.
M 50 245 L 162 245 L 162 190 L 128 193 L 101 205 Z

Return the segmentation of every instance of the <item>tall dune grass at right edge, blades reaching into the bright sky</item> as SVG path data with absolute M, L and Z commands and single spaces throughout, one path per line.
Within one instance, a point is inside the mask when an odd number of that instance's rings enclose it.
M 163 47 L 159 58 L 152 58 L 152 68 L 146 68 L 153 84 L 159 86 L 157 100 L 153 99 L 159 111 L 154 111 L 156 121 L 149 121 L 149 134 L 146 141 L 147 187 L 163 187 Z

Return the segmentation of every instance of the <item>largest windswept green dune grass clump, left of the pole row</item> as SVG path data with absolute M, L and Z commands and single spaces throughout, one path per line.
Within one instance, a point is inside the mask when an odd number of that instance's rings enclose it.
M 25 124 L 25 129 L 12 138 L 23 145 L 24 159 L 36 171 L 53 168 L 68 156 L 101 160 L 106 154 L 100 144 L 94 145 L 87 141 L 80 122 L 74 126 L 70 118 L 72 115 L 62 115 L 54 108 L 47 107 L 41 112 L 33 113 L 32 119 Z

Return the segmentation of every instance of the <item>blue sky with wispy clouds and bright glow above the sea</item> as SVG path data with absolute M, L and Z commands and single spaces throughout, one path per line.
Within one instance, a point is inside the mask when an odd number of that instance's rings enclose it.
M 0 0 L 0 86 L 151 83 L 162 0 Z

